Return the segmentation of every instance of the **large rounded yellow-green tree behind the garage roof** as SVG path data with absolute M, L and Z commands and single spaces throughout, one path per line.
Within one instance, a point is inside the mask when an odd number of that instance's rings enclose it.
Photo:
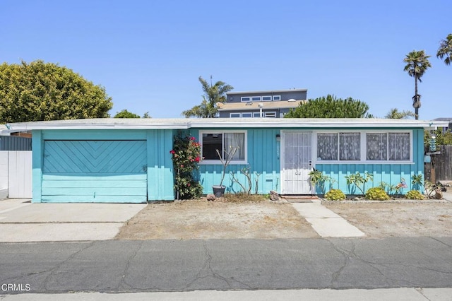
M 0 65 L 0 124 L 109 117 L 105 88 L 58 64 Z

